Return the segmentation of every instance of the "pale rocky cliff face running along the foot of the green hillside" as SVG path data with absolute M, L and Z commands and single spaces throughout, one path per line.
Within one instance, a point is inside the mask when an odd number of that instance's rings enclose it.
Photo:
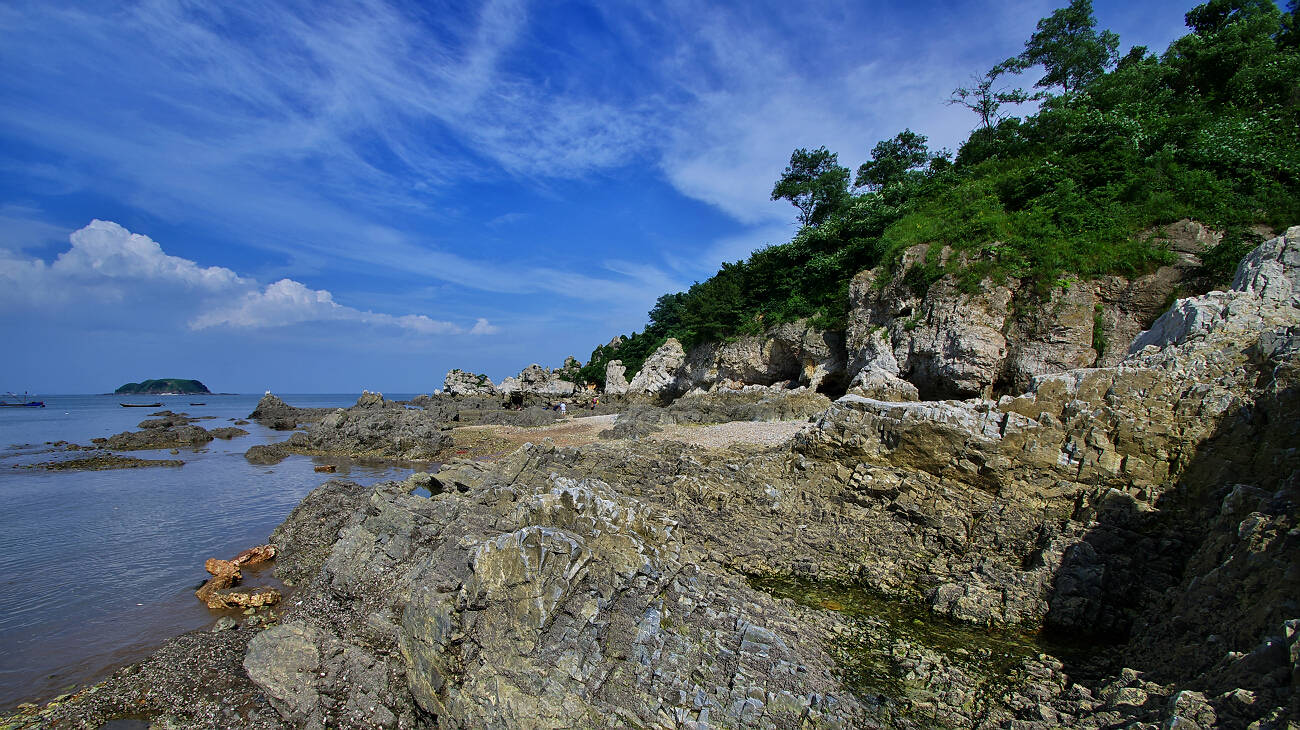
M 916 291 L 909 271 L 930 251 L 914 247 L 897 270 L 854 277 L 844 331 L 800 321 L 690 352 L 679 352 L 672 340 L 629 390 L 673 397 L 696 388 L 780 383 L 887 400 L 1020 392 L 1037 375 L 1119 362 L 1170 301 L 1201 286 L 1196 253 L 1216 236 L 1184 221 L 1167 238 L 1176 256 L 1169 266 L 1135 279 L 1066 281 L 1045 296 L 1017 279 L 965 291 L 954 275 Z

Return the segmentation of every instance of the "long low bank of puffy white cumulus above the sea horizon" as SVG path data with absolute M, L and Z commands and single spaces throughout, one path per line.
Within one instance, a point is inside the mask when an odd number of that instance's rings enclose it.
M 0 248 L 0 307 L 17 308 L 75 300 L 79 305 L 168 301 L 174 310 L 195 309 L 188 326 L 266 329 L 302 322 L 358 322 L 417 335 L 489 335 L 488 320 L 472 326 L 433 320 L 425 314 L 363 310 L 334 300 L 329 290 L 313 290 L 294 279 L 265 287 L 224 266 L 200 266 L 170 256 L 151 238 L 133 234 L 112 221 L 92 221 L 74 231 L 72 247 L 52 264 Z M 181 290 L 181 296 L 176 296 Z M 194 296 L 198 294 L 199 296 Z

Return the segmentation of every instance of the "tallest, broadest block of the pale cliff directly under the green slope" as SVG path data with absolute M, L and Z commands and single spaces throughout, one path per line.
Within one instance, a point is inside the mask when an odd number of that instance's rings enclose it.
M 900 378 L 926 399 L 988 397 L 1020 392 L 1037 375 L 1114 365 L 1176 294 L 1202 286 L 1196 253 L 1214 239 L 1196 223 L 1174 229 L 1175 264 L 1131 281 L 1065 279 L 1046 296 L 1017 279 L 966 291 L 952 274 L 918 288 L 909 273 L 935 257 L 926 245 L 896 268 L 862 271 L 849 287 L 850 388 L 907 399 Z

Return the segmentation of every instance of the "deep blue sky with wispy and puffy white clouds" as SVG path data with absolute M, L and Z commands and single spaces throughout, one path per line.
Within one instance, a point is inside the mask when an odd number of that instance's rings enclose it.
M 0 1 L 0 391 L 585 360 L 789 239 L 796 147 L 956 148 L 1056 5 Z M 1095 6 L 1162 51 L 1191 3 Z

